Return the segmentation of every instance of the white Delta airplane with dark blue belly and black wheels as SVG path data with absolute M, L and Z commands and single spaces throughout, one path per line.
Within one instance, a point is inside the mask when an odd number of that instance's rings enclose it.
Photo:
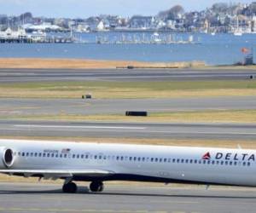
M 77 191 L 73 181 L 91 181 L 92 192 L 113 180 L 256 187 L 246 149 L 0 140 L 0 158 L 0 173 L 61 178 L 64 193 Z

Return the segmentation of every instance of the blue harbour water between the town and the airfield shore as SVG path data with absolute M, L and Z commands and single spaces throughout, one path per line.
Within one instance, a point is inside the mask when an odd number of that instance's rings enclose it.
M 0 57 L 17 58 L 75 58 L 93 60 L 191 61 L 201 60 L 208 65 L 227 65 L 242 61 L 241 48 L 253 48 L 256 56 L 256 34 L 235 37 L 232 34 L 194 34 L 200 44 L 97 44 L 96 37 L 113 41 L 122 32 L 81 33 L 76 37 L 89 43 L 0 43 Z M 152 32 L 125 32 L 125 37 L 147 39 Z M 160 37 L 164 36 L 160 33 Z M 187 40 L 189 34 L 175 35 Z M 254 60 L 255 62 L 255 60 Z

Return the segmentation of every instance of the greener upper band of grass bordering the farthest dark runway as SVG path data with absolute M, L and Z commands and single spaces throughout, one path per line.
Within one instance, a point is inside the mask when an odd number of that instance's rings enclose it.
M 238 81 L 157 81 L 157 82 L 40 82 L 40 83 L 2 83 L 0 88 L 47 89 L 69 91 L 70 89 L 256 89 L 254 80 Z

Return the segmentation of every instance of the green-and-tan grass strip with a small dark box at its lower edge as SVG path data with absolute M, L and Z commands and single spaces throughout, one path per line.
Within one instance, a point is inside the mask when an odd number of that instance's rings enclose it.
M 19 98 L 172 98 L 256 95 L 256 81 L 39 82 L 1 83 L 0 97 Z

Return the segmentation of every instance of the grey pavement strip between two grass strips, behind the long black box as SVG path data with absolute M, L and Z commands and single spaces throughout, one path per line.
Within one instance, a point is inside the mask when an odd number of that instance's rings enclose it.
M 18 99 L 1 98 L 1 115 L 57 115 L 60 113 L 95 115 L 125 111 L 179 112 L 204 110 L 256 109 L 255 96 L 164 98 L 164 99 Z

